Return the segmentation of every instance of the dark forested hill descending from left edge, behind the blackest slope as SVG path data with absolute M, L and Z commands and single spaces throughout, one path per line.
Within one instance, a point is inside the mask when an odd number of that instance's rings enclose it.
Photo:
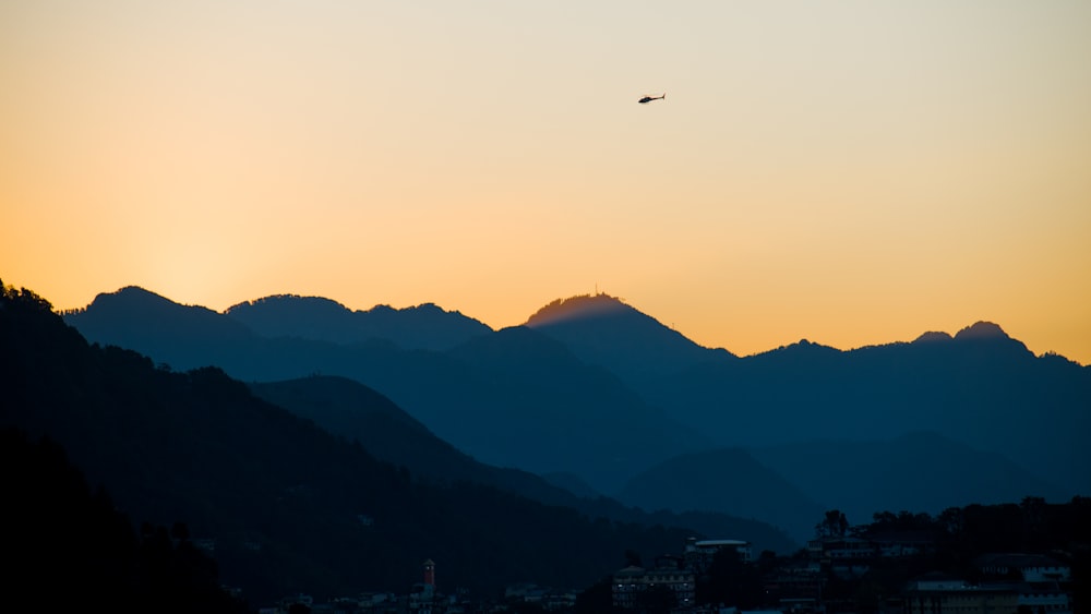
M 678 552 L 681 528 L 594 519 L 494 487 L 441 487 L 254 397 L 215 368 L 156 368 L 92 346 L 34 292 L 0 297 L 0 426 L 61 445 L 134 522 L 185 522 L 251 603 L 403 591 L 436 562 L 441 589 L 582 588 Z

